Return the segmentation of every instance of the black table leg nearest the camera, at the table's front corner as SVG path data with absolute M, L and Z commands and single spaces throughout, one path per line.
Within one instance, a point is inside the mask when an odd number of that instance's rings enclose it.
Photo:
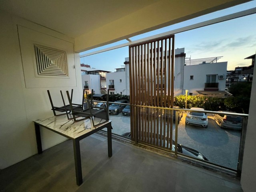
M 76 168 L 76 184 L 80 186 L 83 183 L 83 178 L 82 178 L 82 165 L 81 165 L 79 140 L 73 140 L 73 147 L 74 147 L 74 158 L 75 158 L 75 168 Z

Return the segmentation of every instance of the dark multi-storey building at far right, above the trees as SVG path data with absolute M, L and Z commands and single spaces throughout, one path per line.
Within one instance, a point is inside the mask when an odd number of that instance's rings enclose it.
M 228 87 L 232 83 L 252 81 L 253 70 L 254 70 L 254 58 L 255 58 L 255 54 L 245 58 L 245 59 L 252 59 L 252 64 L 250 66 L 246 66 L 246 67 L 238 66 L 235 68 L 235 70 L 227 71 L 226 89 L 228 89 Z

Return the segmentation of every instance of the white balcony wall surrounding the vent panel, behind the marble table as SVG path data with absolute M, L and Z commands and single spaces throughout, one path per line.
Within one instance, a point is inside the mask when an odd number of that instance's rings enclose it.
M 70 42 L 73 47 L 74 40 L 4 12 L 0 12 L 0 23 L 0 169 L 3 169 L 37 153 L 33 120 L 53 116 L 47 90 L 50 90 L 54 104 L 61 105 L 60 90 L 73 88 L 74 102 L 80 103 L 82 83 L 79 55 L 73 49 L 68 53 L 73 55 L 73 63 L 68 65 L 76 65 L 76 86 L 55 88 L 52 78 L 51 88 L 26 88 L 17 24 Z M 46 129 L 41 130 L 43 150 L 66 140 Z

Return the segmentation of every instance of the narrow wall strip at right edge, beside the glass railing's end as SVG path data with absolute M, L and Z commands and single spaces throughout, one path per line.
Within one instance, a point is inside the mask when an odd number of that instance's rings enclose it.
M 254 68 L 254 74 L 256 68 Z M 242 167 L 241 185 L 244 192 L 256 190 L 256 78 L 252 80 L 252 92 L 250 100 L 249 118 L 247 125 L 246 140 L 244 146 L 244 159 Z

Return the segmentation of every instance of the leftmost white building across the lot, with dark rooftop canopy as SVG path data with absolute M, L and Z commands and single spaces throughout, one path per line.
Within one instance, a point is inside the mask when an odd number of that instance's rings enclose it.
M 91 68 L 90 65 L 81 64 L 82 86 L 88 93 L 94 90 L 96 94 L 106 92 L 106 74 L 110 71 Z

